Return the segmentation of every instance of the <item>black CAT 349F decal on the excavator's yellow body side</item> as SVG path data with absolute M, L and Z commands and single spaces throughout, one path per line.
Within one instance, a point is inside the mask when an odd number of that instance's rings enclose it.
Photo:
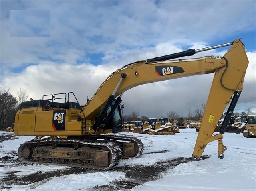
M 54 110 L 52 118 L 52 128 L 54 131 L 63 131 L 65 130 L 65 110 Z

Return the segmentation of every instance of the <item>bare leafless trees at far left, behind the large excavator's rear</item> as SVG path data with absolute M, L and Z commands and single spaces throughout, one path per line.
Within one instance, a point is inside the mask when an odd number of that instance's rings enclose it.
M 0 130 L 5 131 L 15 120 L 15 114 L 20 108 L 20 104 L 28 100 L 25 90 L 18 88 L 14 96 L 10 93 L 10 88 L 0 87 Z

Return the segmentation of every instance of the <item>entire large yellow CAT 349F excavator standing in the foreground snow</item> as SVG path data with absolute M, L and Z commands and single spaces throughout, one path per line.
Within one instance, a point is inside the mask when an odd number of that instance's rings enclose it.
M 223 56 L 181 59 L 226 46 L 231 47 Z M 35 138 L 20 145 L 18 158 L 28 163 L 110 169 L 120 159 L 140 156 L 143 152 L 141 140 L 119 133 L 123 124 L 120 106 L 123 93 L 146 83 L 214 73 L 192 158 L 199 160 L 206 145 L 218 141 L 218 157 L 222 159 L 226 150 L 223 134 L 241 94 L 248 63 L 244 44 L 236 39 L 125 65 L 111 73 L 84 106 L 79 104 L 73 92 L 44 95 L 42 99 L 23 102 L 15 116 L 14 134 Z M 72 97 L 76 102 L 71 102 Z M 212 135 L 229 102 L 220 133 Z

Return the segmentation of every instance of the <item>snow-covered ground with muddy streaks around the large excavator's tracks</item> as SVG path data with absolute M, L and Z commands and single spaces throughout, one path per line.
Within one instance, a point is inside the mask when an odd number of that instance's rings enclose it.
M 142 140 L 144 144 L 143 154 L 137 158 L 123 159 L 113 170 L 108 171 L 88 169 L 77 171 L 76 168 L 65 166 L 22 164 L 17 159 L 18 147 L 33 137 L 20 136 L 5 140 L 6 134 L 12 133 L 0 132 L 0 188 L 3 191 L 256 190 L 256 139 L 244 138 L 242 134 L 224 134 L 223 144 L 227 147 L 224 159 L 218 158 L 216 141 L 208 144 L 203 153 L 204 156 L 210 156 L 209 158 L 200 161 L 187 161 L 173 167 L 166 165 L 165 167 L 165 163 L 167 164 L 171 160 L 191 157 L 198 134 L 195 129 L 180 129 L 180 133 L 175 135 L 122 132 L 120 134 L 134 135 Z M 9 160 L 6 160 L 8 158 Z M 155 174 L 155 177 L 149 176 L 146 181 L 131 180 L 132 176 L 135 177 L 140 169 L 164 170 Z M 65 173 L 69 170 L 71 173 Z M 54 175 L 49 176 L 49 172 Z M 43 176 L 43 178 L 39 181 L 26 181 L 29 176 L 33 176 L 34 179 L 39 176 Z M 13 179 L 12 183 L 10 183 L 10 179 Z M 120 186 L 121 182 L 123 186 Z M 130 187 L 125 186 L 125 183 L 131 184 L 131 182 L 134 184 Z M 113 187 L 113 185 L 118 184 L 118 187 Z

